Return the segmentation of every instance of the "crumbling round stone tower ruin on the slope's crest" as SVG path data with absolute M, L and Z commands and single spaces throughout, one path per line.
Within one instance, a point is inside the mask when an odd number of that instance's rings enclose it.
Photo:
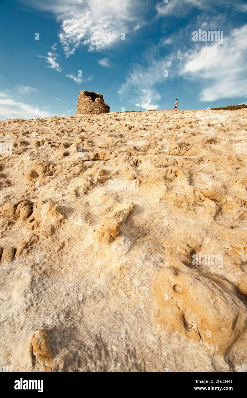
M 76 115 L 100 115 L 101 113 L 109 113 L 109 111 L 109 105 L 104 102 L 102 94 L 86 90 L 79 92 Z

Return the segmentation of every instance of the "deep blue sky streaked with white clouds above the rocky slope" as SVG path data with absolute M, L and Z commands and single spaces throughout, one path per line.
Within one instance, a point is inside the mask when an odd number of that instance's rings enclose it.
M 0 0 L 0 38 L 0 119 L 73 115 L 80 90 L 110 111 L 247 101 L 246 0 Z

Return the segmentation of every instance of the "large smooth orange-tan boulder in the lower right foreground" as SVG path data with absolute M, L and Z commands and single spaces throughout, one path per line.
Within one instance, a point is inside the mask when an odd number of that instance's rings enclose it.
M 245 329 L 245 305 L 209 275 L 165 267 L 156 275 L 153 291 L 156 330 L 180 332 L 224 354 Z

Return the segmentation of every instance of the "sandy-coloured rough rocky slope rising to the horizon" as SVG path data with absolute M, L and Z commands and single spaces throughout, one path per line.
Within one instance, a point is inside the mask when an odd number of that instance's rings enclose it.
M 0 366 L 247 366 L 246 134 L 246 109 L 1 121 Z

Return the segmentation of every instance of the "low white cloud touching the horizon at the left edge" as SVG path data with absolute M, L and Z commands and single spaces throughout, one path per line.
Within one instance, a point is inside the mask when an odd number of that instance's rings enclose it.
M 39 109 L 37 106 L 30 106 L 26 103 L 8 98 L 9 96 L 0 93 L 0 119 L 34 119 L 37 117 L 49 117 L 50 113 Z

